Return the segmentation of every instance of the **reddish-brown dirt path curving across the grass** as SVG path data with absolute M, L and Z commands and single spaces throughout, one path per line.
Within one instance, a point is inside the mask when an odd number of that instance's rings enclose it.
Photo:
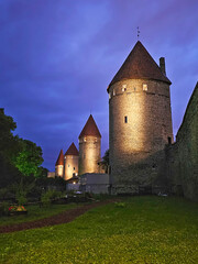
M 113 201 L 116 201 L 116 199 L 98 201 L 98 202 L 94 202 L 90 205 L 85 205 L 81 207 L 69 209 L 65 212 L 61 212 L 61 213 L 52 216 L 50 218 L 38 219 L 38 220 L 30 221 L 30 222 L 15 223 L 15 224 L 10 224 L 10 226 L 2 226 L 2 227 L 0 227 L 0 233 L 10 233 L 10 232 L 22 231 L 22 230 L 28 230 L 28 229 L 35 229 L 35 228 L 50 227 L 50 226 L 54 226 L 54 224 L 68 223 L 92 208 L 96 208 L 99 206 L 105 206 L 105 205 L 108 205 Z

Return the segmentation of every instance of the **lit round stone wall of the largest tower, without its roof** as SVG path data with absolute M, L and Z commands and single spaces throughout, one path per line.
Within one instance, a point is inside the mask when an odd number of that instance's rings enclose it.
M 156 174 L 161 151 L 168 138 L 173 141 L 169 86 L 127 79 L 112 85 L 109 95 L 111 183 L 116 193 L 131 193 Z

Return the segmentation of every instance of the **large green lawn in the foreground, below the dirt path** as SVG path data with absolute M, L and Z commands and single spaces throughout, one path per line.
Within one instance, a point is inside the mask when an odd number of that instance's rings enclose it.
M 131 197 L 75 221 L 0 235 L 0 263 L 198 263 L 198 205 Z

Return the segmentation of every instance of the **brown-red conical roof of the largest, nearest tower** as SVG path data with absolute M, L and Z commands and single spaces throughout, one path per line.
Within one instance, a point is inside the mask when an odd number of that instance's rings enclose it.
M 123 79 L 155 79 L 172 84 L 140 41 L 136 42 L 109 87 Z

